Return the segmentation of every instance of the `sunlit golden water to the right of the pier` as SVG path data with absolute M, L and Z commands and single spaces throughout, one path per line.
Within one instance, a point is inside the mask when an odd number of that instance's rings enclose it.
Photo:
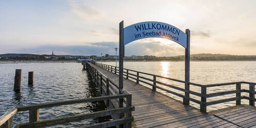
M 116 62 L 104 62 L 107 65 L 116 66 Z M 117 63 L 117 66 L 118 63 Z M 124 68 L 132 69 L 135 71 L 141 71 L 165 77 L 175 78 L 183 80 L 185 79 L 185 62 L 124 62 Z M 143 76 L 143 75 L 142 75 Z M 144 75 L 145 77 L 153 79 L 152 76 Z M 183 83 L 169 81 L 163 78 L 157 78 L 157 81 L 168 83 L 174 86 L 184 88 Z M 256 61 L 191 61 L 190 62 L 190 82 L 198 84 L 217 84 L 246 81 L 256 83 Z M 152 82 L 150 82 L 152 83 Z M 125 85 L 124 85 L 125 86 Z M 151 86 L 148 86 L 151 88 Z M 163 88 L 173 90 L 180 94 L 184 92 L 162 86 Z M 242 89 L 249 90 L 249 85 L 242 84 Z M 190 90 L 201 93 L 201 88 L 197 86 L 190 86 Z M 221 92 L 227 90 L 235 90 L 235 85 L 210 87 L 207 88 L 207 93 Z M 159 90 L 161 91 L 161 90 Z M 163 91 L 162 91 L 163 92 Z M 182 101 L 180 97 L 173 94 L 163 92 L 170 97 Z M 248 95 L 248 93 L 242 93 L 242 95 Z M 196 95 L 190 94 L 190 97 L 201 100 Z M 235 97 L 235 94 L 223 95 L 221 97 L 207 98 L 207 102 Z M 242 104 L 248 104 L 248 100 L 242 100 Z M 194 102 L 190 102 L 191 105 L 200 108 L 200 106 Z M 217 105 L 207 106 L 207 111 L 225 108 L 228 106 L 234 106 L 234 102 L 227 102 Z

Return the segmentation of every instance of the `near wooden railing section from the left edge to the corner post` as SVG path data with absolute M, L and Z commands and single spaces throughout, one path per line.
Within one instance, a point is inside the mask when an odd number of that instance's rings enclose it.
M 134 107 L 129 103 L 126 107 L 122 108 L 113 108 L 108 110 L 97 111 L 88 114 L 79 114 L 74 116 L 66 116 L 55 119 L 48 120 L 39 120 L 39 109 L 40 108 L 48 108 L 60 105 L 70 105 L 70 104 L 78 104 L 78 103 L 87 103 L 94 101 L 103 101 L 103 100 L 113 100 L 126 98 L 131 100 L 131 94 L 117 94 L 117 95 L 109 95 L 104 97 L 95 97 L 95 98 L 87 98 L 87 99 L 76 99 L 76 100 L 67 100 L 67 101 L 59 101 L 59 102 L 51 102 L 51 103 L 43 103 L 43 104 L 35 104 L 35 105 L 27 105 L 27 106 L 18 106 L 7 111 L 6 114 L 0 117 L 0 127 L 12 127 L 12 116 L 19 111 L 29 111 L 29 122 L 24 124 L 17 124 L 15 127 L 43 127 L 43 126 L 51 126 L 56 124 L 63 124 L 74 121 L 81 121 L 86 119 L 98 118 L 109 116 L 111 114 L 122 114 L 122 113 L 131 113 L 134 110 Z M 95 123 L 91 125 L 86 125 L 85 127 L 109 127 L 115 126 L 119 124 L 131 123 L 132 117 L 126 116 L 122 119 L 111 120 L 101 123 Z M 2 126 L 1 126 L 2 125 Z

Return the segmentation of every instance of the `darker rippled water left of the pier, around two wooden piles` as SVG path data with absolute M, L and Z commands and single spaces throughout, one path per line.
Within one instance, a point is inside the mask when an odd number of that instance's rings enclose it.
M 13 91 L 15 69 L 22 69 L 20 93 Z M 0 116 L 15 106 L 99 96 L 97 88 L 90 81 L 89 74 L 82 69 L 81 63 L 75 62 L 0 64 Z M 34 71 L 34 86 L 27 85 L 29 71 Z M 40 120 L 43 120 L 104 109 L 104 103 L 93 102 L 43 108 L 39 109 L 39 114 Z M 77 127 L 107 119 L 91 119 L 53 127 Z M 14 125 L 26 122 L 28 122 L 28 111 L 18 112 L 13 117 Z

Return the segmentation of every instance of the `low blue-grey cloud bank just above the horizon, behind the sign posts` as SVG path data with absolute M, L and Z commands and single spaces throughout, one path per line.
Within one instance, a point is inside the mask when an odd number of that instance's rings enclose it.
M 100 55 L 101 53 L 115 55 L 115 47 L 119 47 L 118 42 L 96 42 L 85 43 L 85 45 L 41 45 L 29 49 L 17 50 L 18 53 L 51 54 L 56 55 Z M 119 52 L 119 51 L 118 51 Z M 155 55 L 155 56 L 175 56 L 183 55 L 184 48 L 179 44 L 163 45 L 161 42 L 132 42 L 125 45 L 125 56 L 131 55 Z

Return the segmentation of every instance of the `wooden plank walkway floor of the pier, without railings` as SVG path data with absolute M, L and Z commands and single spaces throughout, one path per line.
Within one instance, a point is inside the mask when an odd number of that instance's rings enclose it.
M 118 85 L 118 75 L 90 65 Z M 255 107 L 237 105 L 213 113 L 202 113 L 129 79 L 124 78 L 123 85 L 123 90 L 132 94 L 135 127 L 256 127 Z

